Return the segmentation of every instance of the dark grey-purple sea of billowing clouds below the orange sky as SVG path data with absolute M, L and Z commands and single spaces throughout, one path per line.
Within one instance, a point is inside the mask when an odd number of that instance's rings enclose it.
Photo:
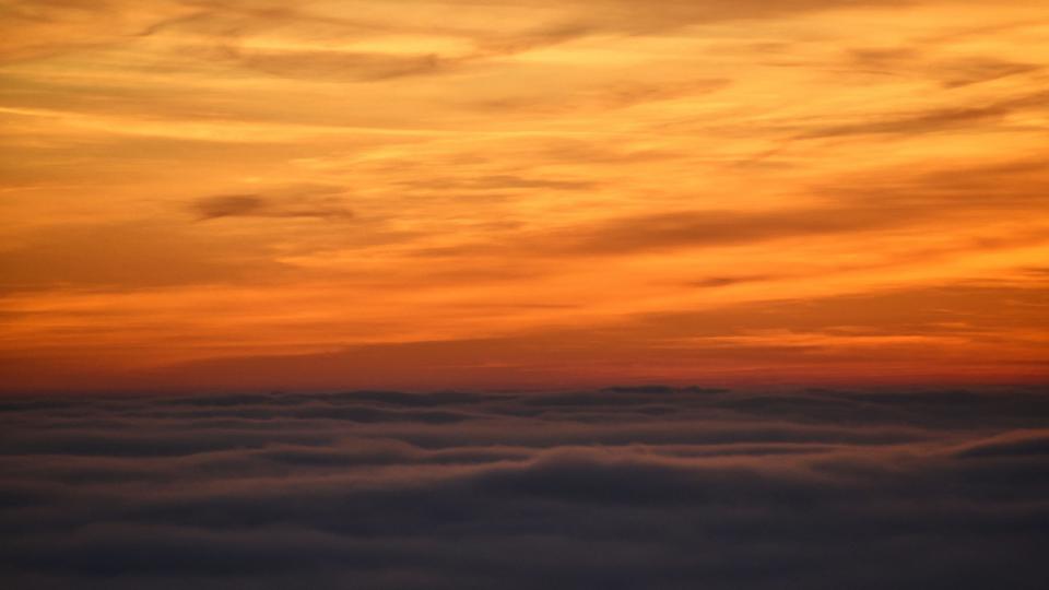
M 1039 391 L 7 400 L 7 588 L 1036 589 Z

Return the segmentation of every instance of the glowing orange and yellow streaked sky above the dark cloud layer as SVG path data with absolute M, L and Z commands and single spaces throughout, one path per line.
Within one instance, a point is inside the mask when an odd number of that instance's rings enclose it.
M 1045 0 L 0 0 L 0 390 L 1049 376 Z

